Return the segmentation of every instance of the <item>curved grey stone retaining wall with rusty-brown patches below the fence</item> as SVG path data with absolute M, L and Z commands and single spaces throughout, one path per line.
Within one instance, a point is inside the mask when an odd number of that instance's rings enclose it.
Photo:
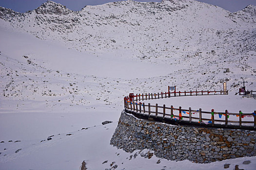
M 111 145 L 126 152 L 151 149 L 168 160 L 209 163 L 256 156 L 256 132 L 170 125 L 138 119 L 122 111 Z

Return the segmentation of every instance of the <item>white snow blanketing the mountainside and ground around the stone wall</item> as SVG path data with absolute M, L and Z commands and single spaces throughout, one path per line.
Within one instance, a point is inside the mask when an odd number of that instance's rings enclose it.
M 56 5 L 49 3 L 44 8 Z M 194 0 L 128 0 L 79 12 L 59 8 L 70 14 L 34 10 L 6 19 L 0 13 L 1 170 L 74 170 L 83 160 L 89 170 L 115 165 L 117 170 L 216 170 L 226 163 L 231 164 L 227 170 L 236 164 L 255 169 L 255 157 L 210 164 L 160 159 L 157 164 L 156 156 L 145 159 L 139 151 L 125 153 L 109 144 L 123 97 L 130 92 L 164 92 L 168 85 L 177 85 L 180 91 L 220 90 L 227 81 L 228 96 L 155 102 L 204 111 L 256 110 L 255 99 L 234 95 L 238 81 L 245 80 L 248 89 L 256 90 L 256 24 L 254 18 L 245 19 L 255 6 L 237 14 Z M 202 18 L 204 14 L 211 17 Z M 188 16 L 195 17 L 194 22 Z M 70 22 L 75 24 L 71 30 L 65 27 Z M 226 68 L 230 72 L 223 73 Z M 102 125 L 105 120 L 113 123 Z M 135 153 L 136 158 L 130 157 Z M 242 164 L 245 160 L 251 163 Z

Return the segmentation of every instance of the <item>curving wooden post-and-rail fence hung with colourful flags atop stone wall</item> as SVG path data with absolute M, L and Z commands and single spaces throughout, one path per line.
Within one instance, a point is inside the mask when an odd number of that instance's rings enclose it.
M 165 104 L 163 106 L 151 105 L 150 103 L 145 104 L 144 100 L 151 99 L 162 99 L 168 97 L 176 96 L 196 96 L 196 95 L 223 95 L 228 94 L 228 91 L 184 91 L 184 92 L 172 92 L 172 93 L 151 93 L 151 94 L 137 94 L 134 97 L 134 102 L 128 101 L 127 98 L 124 98 L 124 107 L 126 112 L 130 112 L 135 116 L 138 116 L 143 119 L 152 119 L 156 121 L 169 122 L 171 124 L 193 124 L 193 125 L 204 125 L 211 127 L 220 127 L 220 128 L 234 128 L 234 129 L 252 129 L 256 130 L 256 111 L 253 113 L 228 113 L 225 112 L 207 112 L 199 110 L 183 109 L 181 106 L 179 108 L 174 108 L 172 105 L 167 107 Z M 183 115 L 182 115 L 183 114 Z M 185 114 L 185 116 L 184 116 Z M 235 116 L 239 120 L 229 120 L 229 116 Z M 239 117 L 239 118 L 238 118 Z M 254 121 L 243 121 L 244 117 L 252 117 Z

